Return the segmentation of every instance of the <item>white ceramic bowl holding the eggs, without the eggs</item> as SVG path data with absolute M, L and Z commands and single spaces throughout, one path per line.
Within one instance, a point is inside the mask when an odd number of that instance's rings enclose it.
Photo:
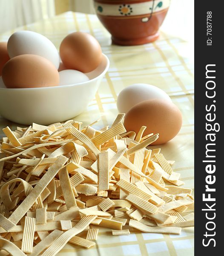
M 56 87 L 8 89 L 0 86 L 0 115 L 10 121 L 30 125 L 49 125 L 72 119 L 82 113 L 109 68 L 103 54 L 101 64 L 86 73 L 89 81 Z M 0 83 L 1 84 L 1 83 Z

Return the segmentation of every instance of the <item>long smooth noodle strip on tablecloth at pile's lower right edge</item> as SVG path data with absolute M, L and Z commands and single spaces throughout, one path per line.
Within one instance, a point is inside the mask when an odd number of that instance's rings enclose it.
M 142 232 L 146 232 L 146 233 L 163 233 L 163 234 L 175 234 L 175 235 L 180 235 L 181 233 L 180 227 L 149 227 L 142 224 L 141 222 L 138 222 L 132 219 L 129 221 L 129 226 L 134 227 L 137 230 L 141 230 Z

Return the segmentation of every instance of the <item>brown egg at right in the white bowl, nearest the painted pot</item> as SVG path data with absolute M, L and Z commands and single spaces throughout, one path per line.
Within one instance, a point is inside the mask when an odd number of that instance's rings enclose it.
M 60 57 L 67 69 L 88 73 L 101 63 L 101 46 L 92 35 L 74 32 L 61 42 Z

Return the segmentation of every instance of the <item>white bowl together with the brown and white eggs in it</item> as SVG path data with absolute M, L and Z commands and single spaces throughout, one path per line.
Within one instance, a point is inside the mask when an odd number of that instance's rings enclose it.
M 49 125 L 82 113 L 109 68 L 98 41 L 84 32 L 67 35 L 58 53 L 32 31 L 0 43 L 0 115 L 20 124 Z

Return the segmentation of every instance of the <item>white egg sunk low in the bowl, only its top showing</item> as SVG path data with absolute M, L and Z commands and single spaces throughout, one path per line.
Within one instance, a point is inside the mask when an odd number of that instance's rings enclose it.
M 78 84 L 89 81 L 88 76 L 78 70 L 62 70 L 59 72 L 59 85 Z

